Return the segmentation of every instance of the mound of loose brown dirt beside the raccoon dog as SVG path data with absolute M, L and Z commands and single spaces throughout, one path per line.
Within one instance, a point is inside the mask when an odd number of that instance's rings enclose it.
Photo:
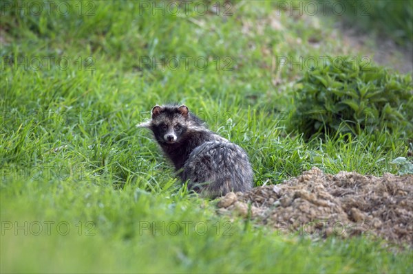
M 288 233 L 372 235 L 410 245 L 413 240 L 413 175 L 332 175 L 313 168 L 279 185 L 226 194 L 218 207 L 220 214 Z

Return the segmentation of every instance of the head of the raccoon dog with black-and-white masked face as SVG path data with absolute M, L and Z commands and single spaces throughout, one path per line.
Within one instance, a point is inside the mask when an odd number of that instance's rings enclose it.
M 181 106 L 153 106 L 152 119 L 140 124 L 152 130 L 160 144 L 175 144 L 187 132 L 189 126 L 189 109 Z

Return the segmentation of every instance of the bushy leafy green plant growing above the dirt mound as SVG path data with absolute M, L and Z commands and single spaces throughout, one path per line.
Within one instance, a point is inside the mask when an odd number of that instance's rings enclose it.
M 396 127 L 412 135 L 412 103 L 412 76 L 367 65 L 362 58 L 328 58 L 297 82 L 292 125 L 306 138 Z

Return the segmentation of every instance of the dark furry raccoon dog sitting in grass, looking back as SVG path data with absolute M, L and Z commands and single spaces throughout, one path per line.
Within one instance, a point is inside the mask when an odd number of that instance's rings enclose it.
M 246 192 L 253 186 L 253 170 L 246 152 L 207 128 L 187 106 L 153 106 L 149 128 L 189 190 L 215 198 Z

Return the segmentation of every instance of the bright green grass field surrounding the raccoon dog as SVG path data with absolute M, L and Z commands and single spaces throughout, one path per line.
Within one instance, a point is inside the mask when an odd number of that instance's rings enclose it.
M 412 249 L 278 235 L 177 181 L 135 126 L 155 104 L 187 104 L 242 146 L 255 185 L 312 166 L 396 173 L 413 139 L 304 141 L 288 130 L 295 80 L 324 56 L 357 60 L 335 19 L 199 3 L 1 2 L 1 273 L 412 273 Z

